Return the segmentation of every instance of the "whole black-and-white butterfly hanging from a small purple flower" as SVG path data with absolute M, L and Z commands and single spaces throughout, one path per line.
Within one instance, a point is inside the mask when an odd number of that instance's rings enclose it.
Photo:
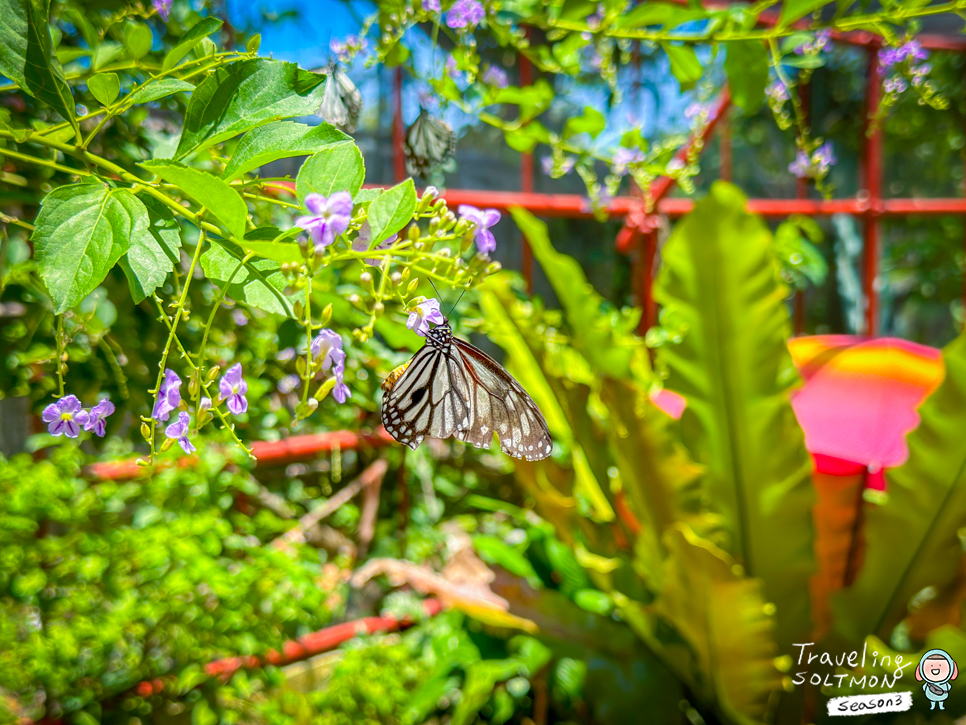
M 382 424 L 413 450 L 426 436 L 489 448 L 494 433 L 514 458 L 539 461 L 553 448 L 533 399 L 493 358 L 453 337 L 446 321 L 426 333 L 426 344 L 382 388 Z

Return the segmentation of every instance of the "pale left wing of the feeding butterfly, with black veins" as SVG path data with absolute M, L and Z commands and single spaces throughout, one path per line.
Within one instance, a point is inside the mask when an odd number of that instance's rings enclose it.
M 424 345 L 383 396 L 382 424 L 413 450 L 426 436 L 450 438 L 469 424 L 468 394 L 458 358 Z

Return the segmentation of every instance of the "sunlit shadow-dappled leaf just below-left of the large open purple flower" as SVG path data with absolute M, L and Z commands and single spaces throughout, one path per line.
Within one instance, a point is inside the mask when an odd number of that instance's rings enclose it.
M 292 304 L 284 290 L 288 280 L 281 266 L 269 259 L 249 260 L 242 265 L 245 252 L 231 242 L 212 244 L 201 255 L 201 267 L 212 280 L 228 283 L 228 295 L 272 314 L 294 317 Z M 230 281 L 229 281 L 230 280 Z

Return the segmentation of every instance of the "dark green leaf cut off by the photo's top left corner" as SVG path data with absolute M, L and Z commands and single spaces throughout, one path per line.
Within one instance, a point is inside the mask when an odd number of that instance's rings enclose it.
M 74 97 L 53 52 L 45 0 L 0 0 L 0 75 L 74 120 Z

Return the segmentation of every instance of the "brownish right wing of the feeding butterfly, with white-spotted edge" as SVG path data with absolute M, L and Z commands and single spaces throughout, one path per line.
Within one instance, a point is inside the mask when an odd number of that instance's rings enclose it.
M 453 351 L 467 375 L 470 411 L 469 425 L 461 427 L 456 437 L 477 448 L 489 448 L 496 433 L 508 456 L 528 461 L 549 456 L 550 430 L 533 398 L 482 350 L 454 338 Z

